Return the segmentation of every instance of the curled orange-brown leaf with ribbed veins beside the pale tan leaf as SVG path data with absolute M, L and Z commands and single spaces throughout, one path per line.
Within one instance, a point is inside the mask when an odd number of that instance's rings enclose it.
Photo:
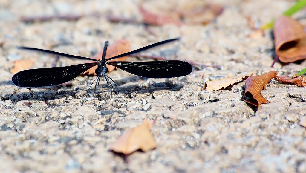
M 277 75 L 276 71 L 271 70 L 268 73 L 264 73 L 258 76 L 251 76 L 246 79 L 244 96 L 248 97 L 248 100 L 243 99 L 245 102 L 251 103 L 255 106 L 260 106 L 262 103 L 268 103 L 260 92 L 262 89 L 266 89 L 266 85 L 271 81 L 273 77 Z

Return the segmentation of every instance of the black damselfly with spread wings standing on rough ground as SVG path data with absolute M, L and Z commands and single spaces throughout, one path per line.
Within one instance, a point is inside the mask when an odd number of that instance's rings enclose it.
M 139 53 L 141 51 L 145 51 L 147 49 L 150 49 L 150 48 L 162 45 L 162 44 L 177 41 L 179 39 L 180 38 L 164 40 L 158 43 L 151 44 L 149 46 L 142 47 L 135 51 L 130 51 L 130 52 L 127 52 L 121 55 L 114 56 L 107 60 L 105 60 L 105 57 L 106 57 L 106 49 L 108 46 L 108 41 L 106 41 L 104 44 L 103 56 L 101 60 L 96 60 L 96 59 L 86 58 L 86 57 L 81 57 L 81 56 L 76 56 L 76 55 L 69 55 L 69 54 L 59 53 L 55 51 L 48 51 L 48 50 L 38 49 L 38 48 L 32 48 L 32 47 L 18 47 L 18 49 L 23 49 L 23 50 L 38 51 L 38 52 L 47 53 L 47 54 L 64 56 L 68 58 L 91 60 L 95 62 L 77 64 L 77 65 L 72 65 L 72 66 L 23 70 L 23 71 L 20 71 L 14 74 L 12 77 L 12 81 L 13 81 L 13 84 L 15 84 L 16 86 L 26 87 L 26 88 L 60 85 L 60 84 L 63 84 L 67 81 L 70 81 L 76 78 L 80 74 L 83 74 L 85 71 L 87 71 L 91 67 L 98 66 L 98 68 L 95 70 L 97 77 L 94 80 L 94 81 L 97 80 L 95 83 L 95 88 L 97 92 L 99 81 L 102 76 L 104 76 L 109 88 L 110 86 L 112 86 L 111 81 L 114 82 L 114 80 L 112 80 L 110 77 L 108 77 L 105 74 L 108 72 L 108 69 L 106 68 L 106 64 L 115 66 L 121 70 L 124 70 L 126 72 L 129 72 L 137 76 L 141 76 L 141 77 L 169 78 L 169 77 L 186 76 L 192 72 L 192 65 L 185 61 L 179 61 L 179 60 L 145 61 L 145 62 L 111 61 L 112 59 L 115 59 L 115 58 L 133 55 L 133 54 Z

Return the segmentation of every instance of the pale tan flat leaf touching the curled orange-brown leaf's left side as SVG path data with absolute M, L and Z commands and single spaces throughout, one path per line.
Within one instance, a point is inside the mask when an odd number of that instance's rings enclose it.
M 206 89 L 207 91 L 217 91 L 221 88 L 226 88 L 234 83 L 242 80 L 247 79 L 249 76 L 234 76 L 234 77 L 226 77 L 218 80 L 213 81 L 206 81 L 202 90 Z

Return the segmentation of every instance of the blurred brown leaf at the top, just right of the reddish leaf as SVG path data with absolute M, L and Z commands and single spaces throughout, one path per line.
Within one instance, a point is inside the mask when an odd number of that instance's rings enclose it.
M 180 12 L 181 17 L 188 24 L 208 24 L 216 16 L 220 15 L 223 11 L 223 6 L 215 3 L 206 3 L 203 6 L 194 6 L 192 9 L 188 9 Z

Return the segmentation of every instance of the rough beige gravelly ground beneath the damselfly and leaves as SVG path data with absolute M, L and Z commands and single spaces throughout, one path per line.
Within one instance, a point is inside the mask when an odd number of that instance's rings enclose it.
M 186 2 L 181 0 L 180 2 Z M 154 2 L 154 3 L 152 3 Z M 0 172 L 306 172 L 306 89 L 271 82 L 258 109 L 241 100 L 244 83 L 229 90 L 201 91 L 207 80 L 276 70 L 293 75 L 306 65 L 276 63 L 267 49 L 269 31 L 250 38 L 247 16 L 264 24 L 293 1 L 217 0 L 223 13 L 210 24 L 149 26 L 111 23 L 105 17 L 24 23 L 20 16 L 107 13 L 141 20 L 137 0 L 0 1 Z M 153 11 L 176 0 L 145 1 Z M 179 3 L 178 3 L 179 4 Z M 298 15 L 302 15 L 300 12 Z M 92 57 L 104 41 L 126 39 L 131 50 L 182 36 L 180 42 L 147 55 L 220 65 L 194 69 L 186 77 L 149 79 L 122 70 L 113 104 L 101 80 L 99 100 L 85 101 L 94 77 L 77 77 L 71 87 L 19 88 L 11 81 L 13 60 L 30 58 L 33 68 L 50 67 L 54 57 L 17 51 L 23 45 Z M 136 58 L 130 58 L 136 61 Z M 84 61 L 60 58 L 66 66 Z M 31 105 L 28 104 L 31 103 Z M 144 118 L 156 120 L 155 150 L 135 152 L 127 161 L 108 151 L 125 130 Z

